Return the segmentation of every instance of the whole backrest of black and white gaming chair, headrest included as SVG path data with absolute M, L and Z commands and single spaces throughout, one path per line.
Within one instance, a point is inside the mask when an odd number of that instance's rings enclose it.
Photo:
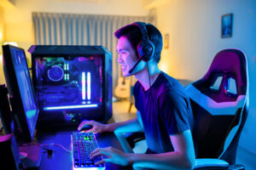
M 246 55 L 224 49 L 212 60 L 207 74 L 186 87 L 195 118 L 193 139 L 197 158 L 236 163 L 236 149 L 247 119 Z

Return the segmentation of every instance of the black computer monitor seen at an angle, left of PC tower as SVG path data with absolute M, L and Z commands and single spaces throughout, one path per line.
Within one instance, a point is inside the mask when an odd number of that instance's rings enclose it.
M 38 120 L 38 105 L 22 48 L 3 46 L 3 71 L 19 132 L 25 141 L 31 141 Z

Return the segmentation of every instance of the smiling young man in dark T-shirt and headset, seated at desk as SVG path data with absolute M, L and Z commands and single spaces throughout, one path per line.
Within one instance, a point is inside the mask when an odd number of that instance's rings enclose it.
M 123 76 L 134 75 L 137 118 L 127 122 L 101 124 L 84 121 L 92 125 L 88 132 L 114 132 L 125 152 L 113 147 L 99 148 L 91 152 L 94 156 L 107 156 L 105 161 L 122 166 L 152 169 L 191 169 L 195 164 L 195 150 L 190 132 L 192 111 L 183 86 L 158 68 L 162 49 L 160 31 L 150 24 L 136 22 L 115 32 L 119 38 L 116 50 Z M 145 132 L 148 151 L 146 154 L 132 153 L 121 133 Z

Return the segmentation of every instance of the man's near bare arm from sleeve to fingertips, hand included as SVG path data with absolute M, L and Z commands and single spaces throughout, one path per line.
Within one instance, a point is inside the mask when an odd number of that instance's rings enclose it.
M 190 130 L 170 136 L 174 151 L 161 154 L 124 153 L 113 147 L 98 148 L 90 153 L 90 158 L 107 156 L 96 165 L 112 162 L 122 166 L 147 167 L 153 169 L 192 169 L 195 165 L 195 150 Z

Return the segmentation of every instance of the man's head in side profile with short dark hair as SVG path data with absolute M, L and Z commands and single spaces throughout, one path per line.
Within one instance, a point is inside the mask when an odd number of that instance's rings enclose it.
M 143 26 L 144 28 L 142 28 Z M 142 29 L 144 29 L 145 31 L 143 31 Z M 145 38 L 145 32 L 147 33 L 146 35 L 147 38 Z M 143 34 L 144 34 L 144 37 L 143 37 Z M 163 41 L 162 41 L 162 36 L 160 31 L 153 25 L 150 25 L 150 24 L 145 25 L 144 23 L 140 23 L 140 22 L 133 23 L 131 25 L 124 26 L 120 28 L 118 31 L 116 31 L 115 37 L 119 38 L 119 42 L 117 44 L 117 51 L 119 53 L 119 64 L 122 67 L 124 76 L 131 75 L 129 71 L 131 71 L 133 66 L 137 63 L 137 60 L 140 59 L 139 54 L 141 54 L 142 56 L 141 52 L 139 52 L 138 54 L 138 51 L 142 51 L 140 50 L 141 48 L 137 49 L 138 44 L 140 44 L 141 46 L 143 42 L 147 42 L 147 41 L 149 41 L 151 44 L 153 43 L 153 47 L 154 47 L 153 56 L 150 56 L 151 53 L 149 53 L 148 57 L 150 57 L 149 58 L 150 60 L 153 59 L 153 61 L 156 64 L 160 61 L 160 53 L 163 46 Z M 145 39 L 149 39 L 149 40 L 145 41 Z M 150 45 L 149 47 L 152 47 L 152 45 Z M 146 55 L 143 55 L 143 56 L 146 56 Z M 147 60 L 147 58 L 143 57 L 143 60 L 145 59 Z M 143 70 L 144 67 L 145 67 L 145 62 L 142 61 L 139 63 L 139 65 L 137 65 L 136 67 L 137 71 L 134 71 L 134 72 L 136 73 L 138 71 L 141 71 Z

